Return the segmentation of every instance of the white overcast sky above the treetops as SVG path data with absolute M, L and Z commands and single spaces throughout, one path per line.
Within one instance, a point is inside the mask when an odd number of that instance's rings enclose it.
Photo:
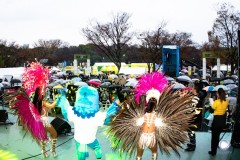
M 110 22 L 113 14 L 127 12 L 136 32 L 165 21 L 170 33 L 191 33 L 202 44 L 217 17 L 216 4 L 223 2 L 240 10 L 240 0 L 0 0 L 0 39 L 20 45 L 60 39 L 77 46 L 87 43 L 81 29 L 91 21 Z

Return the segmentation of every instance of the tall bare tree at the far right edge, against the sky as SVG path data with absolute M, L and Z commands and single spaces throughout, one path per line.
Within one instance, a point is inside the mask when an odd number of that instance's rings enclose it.
M 226 49 L 227 63 L 231 64 L 231 74 L 236 68 L 237 29 L 240 23 L 240 13 L 234 10 L 230 3 L 223 3 L 217 9 L 217 18 L 213 24 L 211 40 L 217 40 L 219 46 Z

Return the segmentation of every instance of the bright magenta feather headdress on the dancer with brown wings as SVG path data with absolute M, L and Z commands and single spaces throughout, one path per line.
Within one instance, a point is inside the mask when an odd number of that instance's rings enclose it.
M 136 101 L 139 103 L 140 96 L 142 94 L 147 94 L 150 90 L 157 90 L 161 93 L 167 84 L 168 80 L 164 77 L 163 73 L 152 72 L 142 75 L 135 87 Z

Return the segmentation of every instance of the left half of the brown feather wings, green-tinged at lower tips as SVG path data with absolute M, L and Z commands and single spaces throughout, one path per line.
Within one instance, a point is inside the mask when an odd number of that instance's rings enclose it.
M 144 106 L 133 101 L 129 109 L 123 109 L 113 118 L 107 135 L 112 142 L 112 149 L 120 153 L 128 153 L 131 157 L 137 149 L 141 135 L 141 126 L 137 126 L 137 119 L 143 117 Z

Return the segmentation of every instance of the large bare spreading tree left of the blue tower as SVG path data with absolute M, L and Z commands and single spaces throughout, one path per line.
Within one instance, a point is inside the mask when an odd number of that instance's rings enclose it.
M 133 33 L 129 32 L 129 18 L 130 15 L 127 13 L 118 13 L 113 15 L 112 22 L 106 24 L 96 22 L 95 25 L 82 30 L 87 40 L 112 61 L 118 70 L 133 36 Z

